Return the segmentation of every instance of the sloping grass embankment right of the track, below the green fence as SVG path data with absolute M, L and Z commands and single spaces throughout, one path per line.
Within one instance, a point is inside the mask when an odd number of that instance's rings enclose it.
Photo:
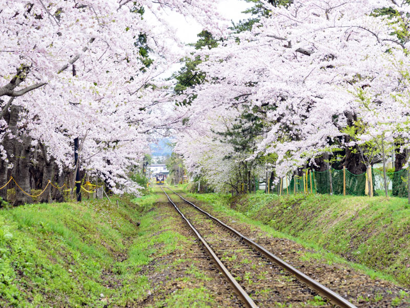
M 315 248 L 329 262 L 351 261 L 355 268 L 410 286 L 410 206 L 384 197 L 252 194 L 191 195 L 216 209 L 260 225 L 274 236 Z M 330 254 L 332 252 L 336 254 Z

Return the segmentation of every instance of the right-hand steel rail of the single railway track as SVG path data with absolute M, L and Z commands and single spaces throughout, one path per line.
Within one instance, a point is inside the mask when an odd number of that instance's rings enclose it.
M 183 201 L 189 203 L 190 205 L 192 205 L 193 207 L 195 207 L 196 209 L 201 211 L 201 213 L 207 215 L 209 218 L 211 218 L 212 220 L 216 221 L 218 224 L 220 224 L 221 226 L 223 226 L 224 228 L 229 230 L 229 232 L 232 232 L 237 237 L 239 237 L 241 240 L 248 243 L 250 246 L 254 247 L 258 252 L 263 254 L 265 257 L 267 257 L 270 260 L 274 261 L 276 264 L 278 264 L 279 266 L 284 268 L 286 271 L 288 271 L 292 275 L 296 276 L 299 279 L 299 281 L 301 281 L 302 283 L 308 285 L 311 289 L 316 291 L 321 297 L 323 297 L 324 299 L 330 301 L 336 307 L 338 307 L 338 308 L 357 308 L 357 306 L 355 306 L 351 302 L 347 301 L 346 299 L 344 299 L 343 297 L 341 297 L 337 293 L 333 292 L 332 290 L 330 290 L 330 288 L 324 286 L 323 284 L 321 284 L 321 283 L 317 282 L 316 280 L 310 278 L 309 276 L 303 274 L 298 269 L 296 269 L 292 265 L 286 263 L 282 259 L 278 258 L 274 254 L 272 254 L 270 251 L 265 249 L 264 247 L 262 247 L 259 244 L 255 243 L 251 239 L 245 237 L 244 235 L 239 233 L 234 228 L 224 224 L 219 219 L 213 217 L 212 215 L 210 215 L 209 213 L 207 213 L 203 209 L 199 208 L 198 206 L 196 206 L 192 202 L 190 202 L 187 199 L 183 198 L 181 195 L 177 194 L 177 192 L 172 190 L 170 187 L 167 187 L 167 188 L 170 189 L 172 192 L 174 192 L 175 195 L 179 196 Z

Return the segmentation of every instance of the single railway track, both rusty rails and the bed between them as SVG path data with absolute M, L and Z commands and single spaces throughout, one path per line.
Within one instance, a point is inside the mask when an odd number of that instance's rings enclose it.
M 173 201 L 161 187 L 245 306 L 356 307 L 171 188 L 167 188 L 175 194 L 173 196 L 178 196 L 178 201 Z

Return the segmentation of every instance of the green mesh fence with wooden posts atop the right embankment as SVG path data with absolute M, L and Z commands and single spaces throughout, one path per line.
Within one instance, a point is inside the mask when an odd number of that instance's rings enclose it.
M 371 168 L 371 170 L 371 186 L 368 186 L 368 183 L 366 183 L 367 172 L 355 175 L 347 169 L 343 172 L 343 169 L 331 168 L 323 172 L 313 170 L 304 172 L 303 176 L 294 176 L 292 179 L 283 178 L 281 182 L 273 187 L 271 186 L 271 192 L 281 195 L 298 192 L 343 195 L 345 190 L 346 195 L 364 196 L 366 195 L 367 185 L 367 191 L 373 189 L 373 195 L 377 196 L 377 191 L 384 191 L 383 170 L 378 168 Z M 386 172 L 386 178 L 387 187 L 392 196 L 407 197 L 407 169 L 397 172 Z

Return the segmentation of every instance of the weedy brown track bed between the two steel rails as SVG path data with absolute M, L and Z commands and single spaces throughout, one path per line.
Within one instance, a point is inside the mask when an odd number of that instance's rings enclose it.
M 259 307 L 334 306 L 325 300 L 327 294 L 323 297 L 318 296 L 312 287 L 306 286 L 294 275 L 284 271 L 269 256 L 263 255 L 263 252 L 261 254 L 249 245 L 249 239 L 231 232 L 171 190 L 167 192 L 175 207 L 208 243 L 243 290 L 252 297 L 255 305 Z M 252 306 L 252 303 L 245 302 L 245 305 Z M 355 307 L 347 301 L 339 305 Z

